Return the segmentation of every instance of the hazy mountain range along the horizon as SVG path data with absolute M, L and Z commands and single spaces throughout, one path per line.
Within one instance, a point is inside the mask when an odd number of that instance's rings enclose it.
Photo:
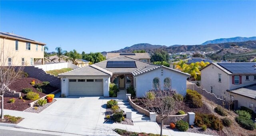
M 154 53 L 156 49 L 163 49 L 168 53 L 176 53 L 183 51 L 214 51 L 230 47 L 230 45 L 236 44 L 238 46 L 247 47 L 249 49 L 256 49 L 256 37 L 233 37 L 233 38 L 221 38 L 214 39 L 211 41 L 206 41 L 201 45 L 152 45 L 149 43 L 138 43 L 130 47 L 125 47 L 115 52 L 132 52 L 134 50 L 145 50 L 148 53 Z M 106 55 L 106 51 L 102 52 L 103 55 Z

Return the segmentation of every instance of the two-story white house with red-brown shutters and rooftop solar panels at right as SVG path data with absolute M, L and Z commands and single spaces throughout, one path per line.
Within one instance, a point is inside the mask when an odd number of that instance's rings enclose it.
M 255 83 L 256 63 L 211 63 L 201 69 L 201 87 L 218 98 L 237 100 L 238 107 L 256 105 Z

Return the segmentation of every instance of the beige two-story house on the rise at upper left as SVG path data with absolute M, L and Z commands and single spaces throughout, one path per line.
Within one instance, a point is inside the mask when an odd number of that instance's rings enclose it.
M 34 59 L 42 59 L 41 64 L 44 64 L 44 45 L 20 35 L 0 32 L 0 52 L 6 66 L 34 65 Z

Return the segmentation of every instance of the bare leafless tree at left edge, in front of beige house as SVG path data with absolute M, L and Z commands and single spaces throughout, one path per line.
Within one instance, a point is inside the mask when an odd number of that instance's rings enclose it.
M 4 39 L 0 40 L 0 97 L 1 119 L 4 119 L 4 94 L 8 87 L 22 76 L 23 67 L 14 67 L 14 52 L 12 48 L 4 46 Z

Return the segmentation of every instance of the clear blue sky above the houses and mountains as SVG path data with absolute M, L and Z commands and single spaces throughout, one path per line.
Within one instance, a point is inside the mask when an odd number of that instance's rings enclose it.
M 252 1 L 0 1 L 0 31 L 79 52 L 256 36 Z

